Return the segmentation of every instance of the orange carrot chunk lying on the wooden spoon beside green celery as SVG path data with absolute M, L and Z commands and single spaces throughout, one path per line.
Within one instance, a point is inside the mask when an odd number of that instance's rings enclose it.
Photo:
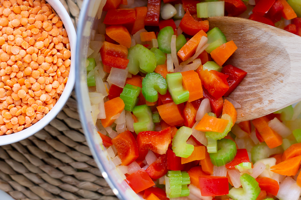
M 227 42 L 225 44 L 222 44 L 221 46 L 214 49 L 210 55 L 211 58 L 218 64 L 219 66 L 222 66 L 225 61 L 230 58 L 230 56 L 236 51 L 237 46 L 231 40 L 230 42 Z

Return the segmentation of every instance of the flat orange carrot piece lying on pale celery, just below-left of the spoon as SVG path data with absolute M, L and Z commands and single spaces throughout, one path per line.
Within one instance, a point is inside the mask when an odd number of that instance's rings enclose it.
M 199 131 L 213 131 L 218 133 L 223 133 L 226 129 L 229 121 L 221 118 L 211 117 L 207 113 L 200 120 L 200 122 L 195 127 Z

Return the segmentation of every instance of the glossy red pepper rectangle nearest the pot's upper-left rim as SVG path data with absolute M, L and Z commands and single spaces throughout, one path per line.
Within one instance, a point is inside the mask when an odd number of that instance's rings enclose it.
M 131 24 L 136 20 L 134 9 L 115 9 L 109 10 L 104 18 L 104 24 L 123 25 Z

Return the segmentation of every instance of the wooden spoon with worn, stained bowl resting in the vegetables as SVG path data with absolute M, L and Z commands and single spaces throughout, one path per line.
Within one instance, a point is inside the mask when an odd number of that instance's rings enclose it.
M 238 47 L 226 64 L 247 72 L 229 97 L 241 105 L 237 121 L 258 118 L 301 100 L 301 37 L 238 17 L 209 17 Z

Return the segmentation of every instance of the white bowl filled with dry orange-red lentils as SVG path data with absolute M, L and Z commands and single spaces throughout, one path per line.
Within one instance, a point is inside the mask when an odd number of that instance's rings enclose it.
M 76 32 L 59 0 L 0 0 L 0 145 L 63 109 L 75 83 Z

